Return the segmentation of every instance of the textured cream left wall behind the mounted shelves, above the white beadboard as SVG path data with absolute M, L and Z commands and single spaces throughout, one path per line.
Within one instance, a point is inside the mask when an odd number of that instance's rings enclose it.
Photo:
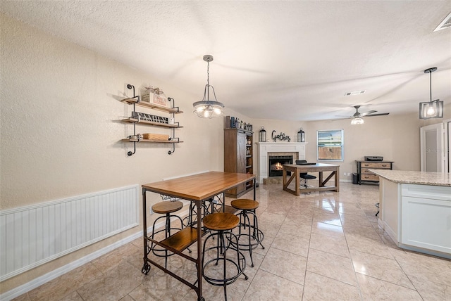
M 1 21 L 1 183 L 0 210 L 37 204 L 132 184 L 145 184 L 204 170 L 223 170 L 223 120 L 192 113 L 202 97 L 179 91 L 156 75 L 110 60 L 0 14 Z M 161 62 L 162 64 L 164 62 Z M 126 84 L 151 83 L 175 98 L 183 143 L 141 143 L 132 157 L 132 125 L 119 122 L 131 106 Z M 140 108 L 141 111 L 145 110 Z M 163 115 L 158 111 L 149 111 Z M 137 132 L 170 134 L 137 127 Z M 152 195 L 152 196 L 150 196 Z M 161 200 L 149 193 L 150 204 Z M 141 207 L 141 206 L 140 206 Z M 141 215 L 141 214 L 140 214 Z M 149 222 L 150 223 L 150 222 Z M 142 223 L 141 223 L 142 224 Z M 1 283 L 4 293 L 142 229 L 106 239 Z

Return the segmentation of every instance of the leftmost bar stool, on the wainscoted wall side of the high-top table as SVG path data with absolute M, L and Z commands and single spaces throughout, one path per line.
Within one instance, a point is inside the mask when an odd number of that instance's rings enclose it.
M 183 229 L 183 222 L 182 219 L 178 215 L 171 214 L 175 211 L 178 211 L 182 209 L 183 203 L 179 200 L 175 201 L 166 201 L 166 202 L 159 202 L 152 206 L 152 211 L 159 214 L 165 214 L 161 217 L 158 217 L 155 219 L 154 225 L 152 226 L 152 236 L 151 238 L 154 239 L 154 236 L 160 232 L 164 231 L 165 238 L 168 238 L 171 236 L 171 230 L 177 230 L 180 231 Z M 173 228 L 171 226 L 171 217 L 175 217 L 178 220 L 180 220 L 180 228 Z M 155 231 L 155 224 L 159 221 L 159 219 L 166 219 L 165 226 L 163 229 L 159 231 Z M 189 250 L 189 249 L 188 249 Z M 158 257 L 165 257 L 164 259 L 164 267 L 167 268 L 168 265 L 168 257 L 174 255 L 173 252 L 171 254 L 168 254 L 168 250 L 162 247 L 159 247 L 159 245 L 156 245 L 156 243 L 151 243 L 149 251 L 152 251 L 155 256 Z M 191 252 L 191 250 L 189 250 Z

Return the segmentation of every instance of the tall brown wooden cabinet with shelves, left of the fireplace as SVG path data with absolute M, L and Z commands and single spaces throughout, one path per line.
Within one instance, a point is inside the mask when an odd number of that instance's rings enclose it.
M 224 172 L 254 173 L 252 134 L 245 129 L 224 129 Z M 240 198 L 252 187 L 252 181 L 240 184 L 226 191 L 226 196 Z

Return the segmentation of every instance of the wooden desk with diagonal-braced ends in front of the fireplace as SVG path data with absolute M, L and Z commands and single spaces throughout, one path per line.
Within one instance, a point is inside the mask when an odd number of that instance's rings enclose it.
M 288 180 L 287 180 L 287 172 L 291 172 L 291 177 Z M 340 165 L 324 164 L 324 163 L 316 163 L 312 165 L 297 165 L 297 164 L 283 165 L 282 177 L 284 191 L 288 191 L 289 193 L 292 193 L 295 196 L 299 196 L 301 194 L 300 177 L 299 177 L 299 174 L 301 172 L 319 172 L 318 178 L 319 186 L 314 188 L 302 189 L 303 193 L 307 193 L 310 191 L 337 191 L 337 192 L 340 191 Z M 330 172 L 329 176 L 325 180 L 323 180 L 323 172 Z M 333 176 L 335 176 L 335 185 L 326 186 L 326 183 Z M 291 184 L 293 179 L 295 179 L 296 190 L 288 188 L 288 185 Z

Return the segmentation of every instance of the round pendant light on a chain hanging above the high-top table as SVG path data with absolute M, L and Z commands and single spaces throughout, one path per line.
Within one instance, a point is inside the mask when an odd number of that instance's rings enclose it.
M 224 105 L 216 100 L 216 94 L 214 93 L 214 87 L 210 85 L 210 62 L 213 60 L 213 56 L 206 54 L 204 60 L 207 63 L 206 67 L 206 85 L 204 90 L 204 98 L 202 101 L 197 101 L 192 104 L 194 107 L 194 113 L 202 118 L 214 118 L 223 115 Z M 213 92 L 212 96 L 214 100 L 210 99 L 210 89 Z

